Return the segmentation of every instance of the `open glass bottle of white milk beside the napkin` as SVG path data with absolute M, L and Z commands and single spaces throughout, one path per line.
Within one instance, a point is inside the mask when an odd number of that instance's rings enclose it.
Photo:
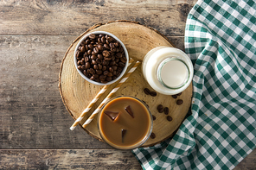
M 144 57 L 142 70 L 149 85 L 165 95 L 184 91 L 194 73 L 189 56 L 176 47 L 155 47 L 150 50 Z

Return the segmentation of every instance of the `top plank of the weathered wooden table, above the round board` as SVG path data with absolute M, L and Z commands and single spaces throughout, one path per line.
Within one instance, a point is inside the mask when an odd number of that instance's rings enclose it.
M 130 20 L 184 35 L 196 0 L 1 1 L 0 35 L 80 35 L 99 22 Z

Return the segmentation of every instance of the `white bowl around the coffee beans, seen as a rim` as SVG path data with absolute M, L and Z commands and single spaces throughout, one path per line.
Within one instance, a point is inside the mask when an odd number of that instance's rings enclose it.
M 91 80 L 91 79 L 87 78 L 85 76 L 85 74 L 78 69 L 78 64 L 77 64 L 77 59 L 76 59 L 76 52 L 78 51 L 78 48 L 80 47 L 81 42 L 84 41 L 86 39 L 86 37 L 91 35 L 91 34 L 94 34 L 94 35 L 100 35 L 100 34 L 110 35 L 110 36 L 112 36 L 112 38 L 114 38 L 116 41 L 118 41 L 119 44 L 124 48 L 126 63 L 125 63 L 125 67 L 123 68 L 123 71 L 120 73 L 120 75 L 118 76 L 117 79 L 113 79 L 112 81 L 109 81 L 107 83 L 99 83 L 97 81 L 94 81 L 94 80 Z M 88 82 L 90 82 L 94 85 L 111 85 L 112 83 L 115 83 L 116 81 L 118 81 L 118 79 L 121 79 L 123 77 L 123 75 L 125 74 L 125 72 L 127 70 L 128 63 L 129 63 L 129 55 L 128 55 L 128 52 L 127 52 L 127 49 L 126 49 L 124 43 L 122 41 L 120 41 L 118 39 L 118 37 L 116 37 L 115 35 L 112 35 L 111 33 L 106 32 L 106 31 L 94 31 L 94 32 L 87 33 L 86 35 L 84 35 L 81 38 L 81 40 L 79 41 L 79 43 L 77 44 L 77 46 L 75 47 L 75 50 L 74 50 L 74 65 L 75 65 L 76 70 L 80 73 L 80 76 L 83 79 L 86 79 L 86 81 L 88 81 Z

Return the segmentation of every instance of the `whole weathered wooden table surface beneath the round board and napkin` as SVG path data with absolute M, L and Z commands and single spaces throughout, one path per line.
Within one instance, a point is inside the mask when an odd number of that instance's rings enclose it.
M 70 131 L 58 89 L 69 45 L 99 22 L 130 20 L 157 29 L 184 50 L 194 1 L 0 2 L 0 169 L 142 169 L 131 151 Z M 256 167 L 256 149 L 235 167 Z

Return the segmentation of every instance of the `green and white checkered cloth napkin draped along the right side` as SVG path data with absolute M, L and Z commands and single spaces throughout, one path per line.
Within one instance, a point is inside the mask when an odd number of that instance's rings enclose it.
M 256 2 L 198 1 L 185 49 L 192 114 L 173 139 L 132 152 L 144 169 L 233 169 L 256 145 Z

